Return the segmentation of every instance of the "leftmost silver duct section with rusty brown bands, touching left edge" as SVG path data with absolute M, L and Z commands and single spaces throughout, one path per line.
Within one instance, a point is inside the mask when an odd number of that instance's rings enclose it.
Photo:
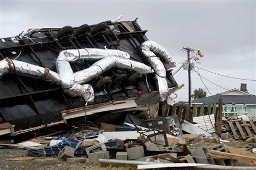
M 9 63 L 8 61 L 9 60 Z M 11 67 L 11 68 L 10 68 Z M 50 83 L 59 84 L 59 75 L 48 68 L 39 67 L 36 65 L 31 65 L 23 61 L 17 60 L 1 60 L 0 61 L 0 77 L 4 74 L 16 73 L 20 76 L 33 77 L 36 79 L 42 79 L 49 81 Z

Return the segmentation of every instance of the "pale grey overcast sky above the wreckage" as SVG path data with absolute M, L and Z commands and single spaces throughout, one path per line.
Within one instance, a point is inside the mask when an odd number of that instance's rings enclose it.
M 200 48 L 203 63 L 198 67 L 227 76 L 256 79 L 255 5 L 256 1 L 13 1 L 0 0 L 0 37 L 15 36 L 28 28 L 73 27 L 96 24 L 123 15 L 134 20 L 146 36 L 165 47 L 177 63 L 186 60 L 182 47 Z M 175 68 L 174 68 L 175 70 Z M 255 81 L 228 79 L 203 70 L 208 80 L 226 89 L 247 83 L 249 93 L 256 94 Z M 180 70 L 174 78 L 185 87 L 176 101 L 187 101 L 187 72 Z M 207 82 L 211 93 L 225 91 Z M 192 90 L 203 88 L 198 75 L 192 73 Z M 207 91 L 207 96 L 210 94 Z

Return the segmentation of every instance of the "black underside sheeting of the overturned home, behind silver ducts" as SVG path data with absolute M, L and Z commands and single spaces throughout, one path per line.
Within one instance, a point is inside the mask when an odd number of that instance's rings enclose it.
M 119 26 L 119 23 L 113 23 L 116 30 L 120 31 L 118 38 L 122 45 L 112 46 L 112 49 L 125 51 L 130 54 L 131 60 L 143 62 L 147 65 L 137 48 L 143 41 L 147 40 L 144 35 L 146 31 L 142 31 L 137 22 L 127 22 L 127 24 L 129 24 L 135 32 L 125 32 L 125 30 Z M 134 27 L 134 24 L 137 26 Z M 49 31 L 52 36 L 56 36 L 58 29 L 56 31 Z M 4 57 L 8 57 L 13 60 L 21 52 L 21 55 L 16 60 L 41 66 L 29 48 L 28 45 L 30 45 L 38 55 L 38 58 L 41 60 L 43 65 L 56 72 L 55 61 L 61 49 L 56 42 L 49 37 L 47 30 L 34 32 L 31 34 L 30 38 L 34 42 L 29 39 L 25 39 L 18 40 L 19 42 L 16 43 L 10 38 L 4 38 L 5 42 L 0 41 L 0 53 L 2 53 Z M 106 38 L 112 42 L 116 41 L 116 38 L 111 33 L 106 33 Z M 104 48 L 104 46 L 107 45 L 100 34 L 96 34 L 95 37 L 89 36 L 89 39 L 95 46 L 99 46 L 100 48 Z M 84 36 L 80 36 L 77 40 L 82 47 L 91 48 L 91 44 Z M 65 49 L 74 49 L 67 40 L 63 40 L 60 43 L 65 47 Z M 11 52 L 13 51 L 17 54 L 12 54 Z M 0 58 L 0 60 L 3 59 Z M 85 69 L 88 66 L 89 65 L 85 62 L 71 64 L 73 72 Z M 111 69 L 103 75 L 115 76 L 117 73 L 116 69 Z M 166 77 L 169 88 L 178 86 L 172 75 L 167 73 Z M 28 129 L 46 124 L 47 122 L 52 123 L 60 121 L 62 119 L 60 113 L 61 110 L 82 107 L 85 105 L 85 102 L 81 97 L 70 97 L 64 94 L 61 87 L 56 84 L 50 84 L 45 81 L 28 77 L 19 76 L 19 78 L 25 84 L 28 91 L 22 86 L 21 82 L 14 74 L 6 74 L 2 79 L 0 79 L 0 122 L 8 121 L 15 124 L 15 130 Z M 153 74 L 147 75 L 147 80 L 149 82 L 150 89 L 152 91 L 157 90 Z M 89 82 L 92 86 L 93 83 L 95 82 Z M 141 87 L 143 93 L 149 92 L 145 76 L 138 80 L 138 85 Z M 117 91 L 113 94 L 107 93 L 106 95 L 95 96 L 95 103 L 102 103 L 123 97 L 138 95 L 138 92 L 138 89 L 135 88 L 127 90 L 126 93 L 123 90 Z M 30 94 L 30 96 L 27 94 Z M 30 97 L 33 99 L 34 103 L 32 103 Z

